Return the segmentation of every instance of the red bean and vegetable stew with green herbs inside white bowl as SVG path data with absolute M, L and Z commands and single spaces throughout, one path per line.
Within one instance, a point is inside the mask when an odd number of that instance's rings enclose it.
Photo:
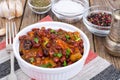
M 79 32 L 33 28 L 19 37 L 20 56 L 30 64 L 45 68 L 68 66 L 81 59 L 84 46 Z

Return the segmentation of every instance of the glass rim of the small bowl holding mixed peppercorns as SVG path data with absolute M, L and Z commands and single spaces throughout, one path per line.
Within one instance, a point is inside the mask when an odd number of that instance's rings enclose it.
M 91 23 L 90 21 L 87 20 L 87 16 L 88 16 L 89 14 L 86 15 L 86 13 L 87 13 L 90 9 L 92 9 L 92 8 L 97 8 L 97 7 L 107 7 L 107 8 L 109 8 L 109 9 L 111 9 L 112 11 L 107 11 L 107 10 L 103 10 L 103 11 L 102 11 L 102 10 L 94 10 L 94 11 L 92 11 L 92 12 L 96 12 L 96 11 L 109 12 L 109 14 L 111 14 L 111 16 L 112 16 L 112 13 L 113 13 L 113 9 L 112 9 L 112 8 L 110 8 L 110 7 L 108 7 L 108 6 L 105 6 L 105 5 L 103 5 L 103 6 L 101 6 L 101 5 L 94 5 L 94 6 L 89 7 L 88 9 L 86 9 L 85 14 L 83 14 L 83 20 L 84 20 L 87 24 L 92 25 L 92 27 L 110 29 L 111 25 L 110 25 L 110 26 L 98 26 L 98 25 L 95 25 L 95 24 L 93 24 L 93 23 Z M 112 22 L 111 22 L 111 24 L 112 24 Z

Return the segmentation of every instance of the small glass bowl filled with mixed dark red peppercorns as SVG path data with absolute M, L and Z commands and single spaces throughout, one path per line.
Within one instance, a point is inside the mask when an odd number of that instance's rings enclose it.
M 83 23 L 97 36 L 106 36 L 110 32 L 112 9 L 107 6 L 92 6 L 86 10 Z

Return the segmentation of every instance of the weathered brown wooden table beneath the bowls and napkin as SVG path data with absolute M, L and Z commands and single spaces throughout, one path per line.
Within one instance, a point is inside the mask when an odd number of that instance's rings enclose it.
M 118 5 L 118 2 L 120 2 L 119 0 L 90 0 L 90 6 L 96 5 L 96 4 L 109 6 L 108 5 L 109 1 L 116 3 L 117 5 L 113 5 L 115 7 L 120 5 L 120 4 Z M 47 15 L 50 15 L 54 21 L 59 21 L 51 11 L 49 11 L 48 13 L 43 14 L 43 15 L 37 15 L 37 14 L 34 14 L 30 10 L 30 8 L 28 7 L 28 4 L 27 4 L 27 0 L 22 0 L 22 2 L 23 2 L 23 6 L 24 6 L 23 16 L 20 18 L 13 19 L 13 21 L 15 21 L 17 24 L 18 31 L 20 31 L 21 29 L 23 29 L 24 27 L 26 27 L 28 25 L 38 22 L 40 19 L 44 18 Z M 6 22 L 7 22 L 6 19 L 0 18 L 0 27 L 5 27 Z M 85 34 L 88 36 L 89 41 L 90 41 L 90 49 L 92 51 L 96 52 L 99 56 L 108 60 L 116 68 L 120 69 L 120 57 L 113 57 L 106 52 L 106 50 L 103 46 L 103 41 L 105 39 L 104 37 L 98 37 L 98 36 L 91 34 L 88 31 L 88 29 L 85 27 L 85 25 L 83 24 L 82 20 L 78 21 L 77 23 L 73 23 L 73 25 L 75 25 L 76 27 L 83 30 L 83 32 L 85 32 Z

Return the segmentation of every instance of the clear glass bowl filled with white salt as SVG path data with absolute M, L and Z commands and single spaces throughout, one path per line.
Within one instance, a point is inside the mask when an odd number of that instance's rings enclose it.
M 88 7 L 87 0 L 54 0 L 51 10 L 58 19 L 74 23 L 82 18 Z

